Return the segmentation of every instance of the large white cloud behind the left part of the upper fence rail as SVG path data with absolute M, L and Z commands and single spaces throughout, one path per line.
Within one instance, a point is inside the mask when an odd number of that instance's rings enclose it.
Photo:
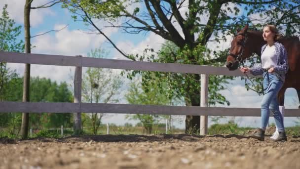
M 59 30 L 65 25 L 55 25 L 54 30 Z M 111 36 L 115 29 L 104 30 L 107 36 Z M 40 33 L 43 33 L 41 31 Z M 38 33 L 38 34 L 40 34 Z M 57 55 L 83 55 L 85 56 L 92 48 L 99 47 L 106 39 L 102 35 L 86 34 L 79 30 L 70 30 L 68 27 L 60 32 L 45 34 L 32 39 L 32 44 L 36 46 L 32 49 L 32 53 L 39 54 L 57 54 Z M 9 63 L 8 67 L 16 69 L 20 76 L 24 74 L 24 64 Z M 70 69 L 72 72 L 70 73 Z M 32 77 L 50 78 L 58 83 L 67 81 L 72 83 L 71 76 L 74 76 L 75 67 L 66 66 L 48 66 L 48 65 L 32 65 Z

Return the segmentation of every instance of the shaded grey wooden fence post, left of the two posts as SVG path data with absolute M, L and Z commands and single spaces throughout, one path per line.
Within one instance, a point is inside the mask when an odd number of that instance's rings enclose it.
M 76 56 L 82 57 L 82 56 Z M 74 77 L 74 103 L 81 103 L 81 77 L 82 67 L 77 66 L 75 68 Z M 74 113 L 74 134 L 78 135 L 81 132 L 81 112 Z

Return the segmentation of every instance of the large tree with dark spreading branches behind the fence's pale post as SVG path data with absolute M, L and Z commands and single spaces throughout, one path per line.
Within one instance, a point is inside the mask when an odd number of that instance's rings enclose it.
M 135 3 L 144 6 L 142 9 L 135 8 L 133 12 L 128 11 L 128 6 Z M 226 40 L 226 36 L 232 36 L 236 28 L 246 23 L 252 28 L 262 28 L 263 24 L 258 22 L 260 20 L 278 25 L 281 30 L 287 29 L 291 34 L 299 34 L 300 25 L 299 0 L 66 0 L 64 7 L 76 14 L 75 20 L 79 16 L 83 22 L 105 36 L 123 56 L 133 60 L 144 61 L 147 57 L 134 57 L 122 52 L 97 27 L 95 20 L 114 21 L 121 18 L 121 24 L 110 22 L 109 27 L 121 28 L 128 34 L 152 32 L 173 42 L 179 47 L 175 55 L 165 55 L 162 59 L 149 58 L 150 61 L 163 63 L 224 65 L 226 50 L 212 52 L 207 46 L 208 42 Z M 254 17 L 256 15 L 261 18 Z M 187 106 L 200 105 L 199 75 L 169 74 L 166 79 L 174 80 L 170 92 L 184 97 Z M 217 88 L 211 88 L 213 90 L 209 92 L 218 93 L 218 85 L 224 82 L 224 77 L 214 76 L 210 81 Z M 181 87 L 181 84 L 185 85 Z M 211 104 L 226 103 L 224 98 L 215 98 Z M 200 127 L 199 116 L 187 116 L 186 132 L 194 126 Z

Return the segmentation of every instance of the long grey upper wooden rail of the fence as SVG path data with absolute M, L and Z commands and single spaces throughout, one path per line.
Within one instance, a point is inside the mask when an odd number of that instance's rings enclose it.
M 0 62 L 29 63 L 40 65 L 94 67 L 155 72 L 245 76 L 240 71 L 228 71 L 225 67 L 189 65 L 180 63 L 153 63 L 130 60 L 74 57 L 47 54 L 0 52 Z M 249 77 L 253 75 L 249 74 Z

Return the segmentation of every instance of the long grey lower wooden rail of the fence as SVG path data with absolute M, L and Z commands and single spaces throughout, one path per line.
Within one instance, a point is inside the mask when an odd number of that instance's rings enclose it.
M 261 116 L 260 108 L 163 106 L 108 103 L 43 103 L 0 102 L 0 112 L 28 113 L 119 113 L 119 114 L 163 114 L 194 116 Z M 300 116 L 299 109 L 285 109 L 285 117 Z

